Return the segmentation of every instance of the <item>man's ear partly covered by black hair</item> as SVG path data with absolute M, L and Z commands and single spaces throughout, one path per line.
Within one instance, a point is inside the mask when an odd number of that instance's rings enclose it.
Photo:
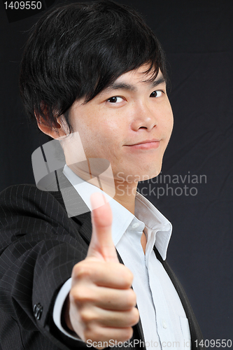
M 36 113 L 35 113 L 35 116 L 36 116 Z M 38 128 L 44 134 L 52 137 L 52 139 L 66 137 L 67 134 L 69 134 L 68 126 L 66 125 L 66 122 L 64 121 L 63 116 L 59 116 L 59 118 L 57 118 L 55 125 L 53 127 L 51 127 L 50 123 L 48 123 L 48 120 L 45 120 L 38 116 L 36 116 L 36 122 L 37 122 Z

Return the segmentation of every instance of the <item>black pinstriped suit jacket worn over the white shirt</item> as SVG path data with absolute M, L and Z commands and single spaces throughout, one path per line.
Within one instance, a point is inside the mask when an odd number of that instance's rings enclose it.
M 66 198 L 66 209 L 64 200 Z M 77 210 L 76 216 L 72 216 Z M 60 332 L 52 320 L 59 288 L 90 243 L 90 212 L 72 186 L 48 193 L 36 186 L 12 186 L 0 195 L 0 344 L 2 350 L 87 349 Z M 69 218 L 69 216 L 72 216 Z M 192 349 L 202 333 L 174 272 L 157 258 L 174 283 L 190 324 Z M 118 255 L 119 259 L 120 256 Z M 120 259 L 120 262 L 122 260 Z M 143 341 L 141 322 L 134 326 L 134 348 Z M 124 347 L 124 346 L 123 346 Z M 130 349 L 130 348 L 127 348 Z

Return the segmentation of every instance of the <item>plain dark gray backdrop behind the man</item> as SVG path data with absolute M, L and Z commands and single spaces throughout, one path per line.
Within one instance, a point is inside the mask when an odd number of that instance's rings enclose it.
M 31 153 L 48 141 L 27 123 L 17 83 L 27 30 L 39 14 L 20 19 L 17 12 L 8 22 L 3 2 L 0 190 L 15 183 L 34 183 Z M 171 179 L 178 175 L 179 183 L 167 180 L 176 190 L 173 195 L 171 189 L 166 193 L 164 181 L 142 183 L 139 188 L 148 189 L 143 192 L 173 223 L 168 261 L 183 283 L 204 338 L 233 342 L 233 1 L 120 2 L 139 10 L 155 31 L 167 52 L 171 80 L 175 123 L 162 175 Z M 188 175 L 190 179 L 206 175 L 206 183 L 189 183 Z M 159 199 L 158 187 L 165 190 Z M 190 195 L 192 187 L 197 195 Z

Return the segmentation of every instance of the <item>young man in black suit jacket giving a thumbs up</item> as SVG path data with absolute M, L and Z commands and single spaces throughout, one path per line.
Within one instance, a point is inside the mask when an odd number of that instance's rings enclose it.
M 35 25 L 22 99 L 59 140 L 66 166 L 55 172 L 55 190 L 1 193 L 3 350 L 200 347 L 165 261 L 171 224 L 136 193 L 138 181 L 160 173 L 171 136 L 166 80 L 160 43 L 131 8 L 73 3 Z M 114 195 L 108 204 L 94 194 L 94 160 L 111 165 L 114 186 L 107 173 L 99 186 Z

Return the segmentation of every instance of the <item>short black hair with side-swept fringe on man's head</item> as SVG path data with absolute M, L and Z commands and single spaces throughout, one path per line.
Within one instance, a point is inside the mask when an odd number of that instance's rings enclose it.
M 27 114 L 50 126 L 77 99 L 85 103 L 123 73 L 150 64 L 167 78 L 164 52 L 139 13 L 110 0 L 52 8 L 32 27 L 20 66 Z

